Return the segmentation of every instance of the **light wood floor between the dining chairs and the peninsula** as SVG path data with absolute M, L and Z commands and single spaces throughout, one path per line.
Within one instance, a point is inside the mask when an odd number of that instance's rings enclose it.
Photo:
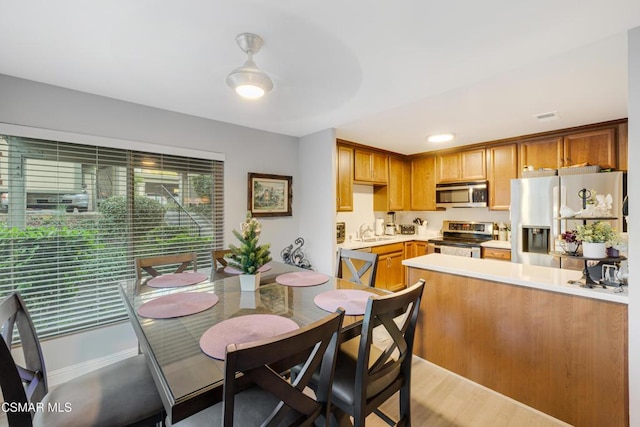
M 411 423 L 416 427 L 569 425 L 417 357 L 411 377 Z M 397 396 L 382 409 L 397 419 Z M 367 427 L 383 426 L 376 415 L 367 417 Z

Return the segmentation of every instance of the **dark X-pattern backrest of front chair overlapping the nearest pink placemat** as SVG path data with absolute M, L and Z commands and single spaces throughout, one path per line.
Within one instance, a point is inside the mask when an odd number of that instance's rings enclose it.
M 233 425 L 236 393 L 248 385 L 259 387 L 275 396 L 276 405 L 267 409 L 263 426 L 313 426 L 321 415 L 329 420 L 329 397 L 344 310 L 325 316 L 317 322 L 273 338 L 245 344 L 229 344 L 225 359 L 223 391 L 223 425 Z M 282 376 L 292 367 L 302 369 L 295 379 Z M 314 372 L 320 381 L 315 399 L 305 393 Z M 242 375 L 238 375 L 241 372 Z M 254 408 L 260 402 L 253 402 Z M 246 408 L 245 408 L 246 410 Z M 251 410 L 250 408 L 248 410 Z

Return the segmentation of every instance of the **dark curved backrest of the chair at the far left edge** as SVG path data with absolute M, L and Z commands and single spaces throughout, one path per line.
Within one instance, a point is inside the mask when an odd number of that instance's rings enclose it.
M 16 326 L 24 366 L 18 364 L 11 353 Z M 17 408 L 29 408 L 30 403 L 36 405 L 47 394 L 47 373 L 31 316 L 17 292 L 0 303 L 0 327 L 0 389 L 4 402 Z M 13 410 L 6 411 L 6 414 L 10 426 L 30 426 L 34 415 L 30 411 Z

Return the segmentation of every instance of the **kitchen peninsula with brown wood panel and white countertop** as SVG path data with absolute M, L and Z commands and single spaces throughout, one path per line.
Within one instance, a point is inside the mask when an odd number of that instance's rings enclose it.
M 629 425 L 626 289 L 497 260 L 403 265 L 408 283 L 426 280 L 416 355 L 572 425 Z

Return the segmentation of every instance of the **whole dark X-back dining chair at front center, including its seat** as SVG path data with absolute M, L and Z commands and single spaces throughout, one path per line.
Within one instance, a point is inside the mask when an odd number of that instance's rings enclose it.
M 313 426 L 316 422 L 328 426 L 329 390 L 343 318 L 344 311 L 338 309 L 286 334 L 229 344 L 223 401 L 173 426 Z M 297 364 L 304 368 L 291 379 L 287 373 Z M 305 388 L 316 370 L 320 380 L 314 398 Z

